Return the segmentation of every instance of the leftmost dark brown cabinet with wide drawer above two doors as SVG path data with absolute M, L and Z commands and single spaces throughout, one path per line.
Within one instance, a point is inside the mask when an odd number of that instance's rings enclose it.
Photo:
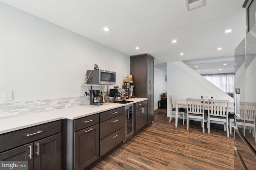
M 56 121 L 1 135 L 1 141 L 5 141 L 1 149 L 9 149 L 8 143 L 15 143 L 12 145 L 15 149 L 1 152 L 0 160 L 28 161 L 28 170 L 61 170 L 60 131 L 60 121 Z

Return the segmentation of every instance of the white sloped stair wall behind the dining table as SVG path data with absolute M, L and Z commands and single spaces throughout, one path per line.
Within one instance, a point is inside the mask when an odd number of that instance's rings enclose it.
M 170 94 L 174 104 L 180 99 L 200 98 L 200 96 L 234 102 L 228 94 L 182 61 L 167 63 L 167 95 Z M 167 102 L 167 115 L 170 116 L 169 102 Z

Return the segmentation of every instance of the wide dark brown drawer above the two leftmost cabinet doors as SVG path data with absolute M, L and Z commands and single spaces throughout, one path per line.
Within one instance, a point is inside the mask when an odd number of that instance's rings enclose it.
M 60 131 L 61 121 L 55 121 L 0 135 L 0 152 L 60 133 Z

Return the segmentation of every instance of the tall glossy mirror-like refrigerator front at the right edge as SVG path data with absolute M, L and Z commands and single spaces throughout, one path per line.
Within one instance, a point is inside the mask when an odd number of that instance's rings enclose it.
M 256 169 L 256 26 L 235 50 L 234 169 Z

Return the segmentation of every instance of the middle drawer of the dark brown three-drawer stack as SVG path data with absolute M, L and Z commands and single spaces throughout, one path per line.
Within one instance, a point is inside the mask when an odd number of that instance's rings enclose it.
M 120 116 L 114 117 L 112 119 L 109 119 L 100 123 L 100 139 L 124 127 L 124 124 L 125 124 L 124 119 L 125 119 L 125 115 L 123 113 Z

